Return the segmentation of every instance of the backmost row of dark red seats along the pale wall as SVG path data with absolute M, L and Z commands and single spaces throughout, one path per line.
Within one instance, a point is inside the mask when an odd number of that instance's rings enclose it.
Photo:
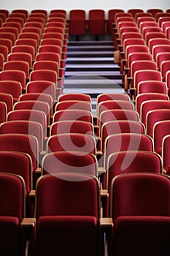
M 72 35 L 82 35 L 86 33 L 86 29 L 89 29 L 90 34 L 105 34 L 105 24 L 108 27 L 109 34 L 112 34 L 112 23 L 114 20 L 114 15 L 117 12 L 125 12 L 123 9 L 112 9 L 108 12 L 105 12 L 104 10 L 90 10 L 88 12 L 88 18 L 86 18 L 87 13 L 85 10 L 70 10 L 69 11 L 69 20 L 70 26 L 70 34 Z M 136 13 L 138 12 L 144 12 L 142 9 L 129 9 L 127 11 L 130 13 L 133 17 L 135 17 Z M 149 9 L 147 10 L 147 13 L 150 13 L 153 17 L 155 15 L 158 15 L 158 13 L 163 12 L 161 9 Z M 169 12 L 169 10 L 166 10 L 166 12 Z M 47 10 L 31 10 L 31 13 L 29 14 L 27 10 L 12 10 L 12 13 L 9 13 L 8 10 L 0 10 L 1 14 L 1 23 L 4 22 L 6 18 L 9 18 L 9 16 L 16 17 L 15 14 L 18 15 L 19 18 L 24 18 L 26 20 L 27 18 L 36 17 L 39 20 L 41 18 L 44 18 L 47 20 L 47 18 L 54 18 L 56 16 L 61 18 L 66 18 L 66 10 L 51 10 L 49 15 L 47 13 Z M 105 17 L 107 14 L 108 17 Z M 88 22 L 87 22 L 88 20 Z M 100 22 L 100 26 L 95 25 L 95 20 L 98 20 Z M 107 21 L 108 20 L 108 21 Z M 107 21 L 107 23 L 106 23 Z M 76 24 L 76 26 L 74 26 Z

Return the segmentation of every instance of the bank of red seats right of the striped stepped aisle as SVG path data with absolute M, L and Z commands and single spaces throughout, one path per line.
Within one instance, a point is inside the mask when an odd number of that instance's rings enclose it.
M 169 97 L 167 97 L 169 94 L 169 39 L 163 33 L 163 25 L 169 26 L 169 17 L 160 17 L 158 22 L 155 22 L 148 15 L 138 15 L 140 17 L 137 19 L 138 21 L 140 19 L 141 23 L 137 23 L 137 20 L 129 21 L 128 19 L 132 18 L 127 14 L 124 17 L 126 21 L 117 22 L 117 26 L 131 23 L 131 26 L 124 25 L 120 28 L 117 42 L 123 42 L 122 45 L 120 43 L 120 50 L 124 48 L 126 53 L 125 59 L 122 59 L 125 85 L 127 83 L 130 85 L 131 96 L 133 95 L 133 99 L 135 99 L 136 110 L 139 113 L 140 121 L 146 127 L 147 135 L 154 138 L 155 145 L 161 139 L 158 143 L 159 146 L 157 144 L 159 149 L 155 146 L 155 151 L 162 154 L 163 137 L 169 135 L 166 130 L 166 121 L 169 121 Z M 142 25 L 143 30 L 146 29 L 147 31 L 145 39 L 144 33 L 142 34 Z M 147 26 L 144 28 L 144 25 Z M 160 28 L 161 26 L 162 28 Z M 128 45 L 127 48 L 125 45 Z M 122 53 L 122 56 L 125 53 Z M 166 102 L 167 99 L 168 102 Z M 159 130 L 160 134 L 166 130 L 162 137 L 159 137 L 157 133 L 160 125 L 157 126 L 157 121 L 158 123 L 161 121 L 162 131 Z

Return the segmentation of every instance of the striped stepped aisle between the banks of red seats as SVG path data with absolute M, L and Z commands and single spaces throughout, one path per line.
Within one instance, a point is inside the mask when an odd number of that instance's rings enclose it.
M 113 59 L 112 41 L 70 41 L 63 93 L 124 93 L 120 69 Z M 95 108 L 95 107 L 94 107 Z

